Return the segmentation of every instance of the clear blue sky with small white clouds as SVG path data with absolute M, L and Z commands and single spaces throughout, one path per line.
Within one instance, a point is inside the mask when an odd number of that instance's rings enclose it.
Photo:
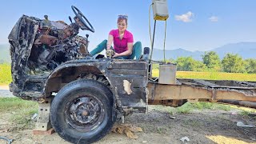
M 255 0 L 167 0 L 170 18 L 167 20 L 166 49 L 211 50 L 236 42 L 256 42 Z M 70 6 L 77 6 L 94 26 L 90 34 L 92 50 L 115 29 L 118 14 L 128 14 L 128 30 L 134 41 L 150 46 L 150 0 L 8 0 L 0 5 L 0 44 L 8 43 L 7 36 L 22 14 L 70 24 L 74 17 Z M 150 12 L 151 30 L 154 21 Z M 157 22 L 154 47 L 163 48 L 165 22 Z

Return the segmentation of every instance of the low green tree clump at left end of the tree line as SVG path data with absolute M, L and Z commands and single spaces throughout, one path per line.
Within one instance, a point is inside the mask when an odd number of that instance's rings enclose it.
M 200 61 L 194 60 L 192 57 L 179 57 L 176 60 L 177 70 L 180 71 L 204 71 L 206 65 Z

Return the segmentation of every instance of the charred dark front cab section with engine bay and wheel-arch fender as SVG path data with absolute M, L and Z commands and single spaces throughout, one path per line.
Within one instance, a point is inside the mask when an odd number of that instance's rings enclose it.
M 66 39 L 51 36 L 47 40 L 38 40 L 42 22 L 44 20 L 23 15 L 9 35 L 13 78 L 10 90 L 15 96 L 42 101 L 58 93 L 67 83 L 87 78 L 109 86 L 122 112 L 146 111 L 147 61 L 83 56 L 80 46 L 86 43 L 78 41 L 76 35 Z M 52 33 L 62 32 L 60 29 Z M 53 37 L 56 42 L 46 42 Z M 54 50 L 53 56 L 51 50 Z M 123 82 L 130 83 L 129 92 Z

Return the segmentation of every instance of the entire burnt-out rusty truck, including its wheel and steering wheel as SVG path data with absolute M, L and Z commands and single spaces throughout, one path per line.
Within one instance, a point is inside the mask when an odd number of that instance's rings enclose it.
M 186 102 L 228 102 L 255 106 L 256 82 L 176 78 L 172 63 L 88 54 L 94 27 L 72 6 L 74 21 L 50 21 L 22 15 L 8 37 L 10 91 L 39 103 L 35 130 L 54 130 L 68 142 L 91 143 L 103 138 L 117 118 L 145 113 L 148 105 L 182 106 Z M 159 65 L 159 77 L 152 65 Z

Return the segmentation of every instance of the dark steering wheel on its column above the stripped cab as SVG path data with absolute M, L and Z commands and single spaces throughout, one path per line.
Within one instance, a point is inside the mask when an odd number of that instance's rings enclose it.
M 91 26 L 90 22 L 88 19 L 85 17 L 84 14 L 80 10 L 78 10 L 77 7 L 71 6 L 72 10 L 74 11 L 75 17 L 74 21 L 80 26 L 82 30 L 90 30 L 91 32 L 94 33 L 94 27 Z

